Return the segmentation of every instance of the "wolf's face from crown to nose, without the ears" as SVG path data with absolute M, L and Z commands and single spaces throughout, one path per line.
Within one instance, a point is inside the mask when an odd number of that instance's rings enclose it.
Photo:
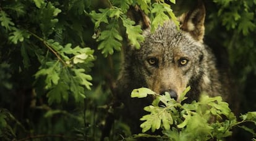
M 173 22 L 153 34 L 145 33 L 145 42 L 135 50 L 135 57 L 140 63 L 136 70 L 147 87 L 158 94 L 169 92 L 174 99 L 179 99 L 190 82 L 202 75 L 203 45 L 177 31 Z

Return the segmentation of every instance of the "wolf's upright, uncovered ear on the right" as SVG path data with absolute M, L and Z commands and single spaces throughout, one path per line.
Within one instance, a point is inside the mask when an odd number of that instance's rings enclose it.
M 195 9 L 182 14 L 179 17 L 179 22 L 181 30 L 189 32 L 195 40 L 203 41 L 203 35 L 205 34 L 205 6 L 203 6 L 202 2 L 199 2 Z

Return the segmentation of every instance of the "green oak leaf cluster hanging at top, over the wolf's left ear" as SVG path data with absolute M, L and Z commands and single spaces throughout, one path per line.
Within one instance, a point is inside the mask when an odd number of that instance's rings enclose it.
M 175 3 L 175 1 L 171 2 Z M 119 25 L 126 29 L 130 45 L 139 49 L 140 42 L 144 41 L 140 25 L 135 25 L 135 22 L 126 16 L 129 7 L 135 5 L 140 6 L 140 9 L 150 16 L 151 31 L 155 31 L 158 26 L 163 25 L 166 20 L 169 20 L 169 17 L 174 20 L 176 25 L 179 24 L 173 14 L 173 10 L 171 10 L 171 6 L 163 0 L 156 2 L 148 0 L 109 1 L 109 7 L 99 9 L 98 12 L 96 10 L 90 12 L 90 16 L 95 20 L 94 38 L 100 41 L 98 49 L 102 49 L 101 53 L 105 57 L 108 54 L 113 54 L 114 50 L 121 49 L 122 36 Z M 107 25 L 105 26 L 105 24 Z

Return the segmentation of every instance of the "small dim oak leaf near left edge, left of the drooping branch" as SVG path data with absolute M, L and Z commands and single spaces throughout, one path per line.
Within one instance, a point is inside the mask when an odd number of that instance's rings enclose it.
M 25 30 L 19 30 L 17 28 L 14 28 L 14 31 L 9 36 L 9 40 L 14 44 L 17 44 L 18 41 L 23 42 L 24 38 L 30 38 L 30 34 Z

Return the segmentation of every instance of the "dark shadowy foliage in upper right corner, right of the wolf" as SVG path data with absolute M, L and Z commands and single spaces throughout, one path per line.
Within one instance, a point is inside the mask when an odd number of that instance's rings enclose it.
M 229 62 L 235 68 L 241 68 L 234 71 L 242 82 L 245 81 L 249 73 L 255 74 L 255 55 L 254 46 L 256 44 L 255 36 L 255 6 L 256 1 L 229 1 L 229 0 L 213 0 L 219 9 L 215 13 L 210 14 L 210 20 L 215 20 L 209 25 L 209 30 L 213 30 L 217 26 L 224 26 L 228 32 L 222 34 L 220 39 L 224 39 L 223 46 L 227 47 L 229 52 Z M 228 34 L 227 34 L 228 33 Z M 229 34 L 231 36 L 229 36 Z M 241 40 L 237 40 L 241 39 Z M 249 58 L 249 59 L 248 59 Z M 245 61 L 246 60 L 246 61 Z M 237 66 L 237 63 L 245 62 Z

